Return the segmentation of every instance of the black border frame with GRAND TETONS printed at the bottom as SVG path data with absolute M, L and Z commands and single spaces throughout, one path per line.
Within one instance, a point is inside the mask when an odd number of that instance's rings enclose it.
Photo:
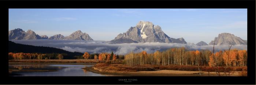
M 145 3 L 146 2 L 146 3 Z M 255 81 L 255 0 L 158 0 L 158 1 L 0 1 L 1 19 L 6 40 L 3 54 L 8 55 L 8 8 L 247 8 L 248 76 L 247 77 L 10 77 L 8 57 L 1 57 L 0 84 L 256 84 Z M 96 5 L 97 4 L 97 5 Z M 137 79 L 124 82 L 118 79 Z

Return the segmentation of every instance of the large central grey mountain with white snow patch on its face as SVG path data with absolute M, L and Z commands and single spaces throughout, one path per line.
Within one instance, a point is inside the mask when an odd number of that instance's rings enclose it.
M 119 34 L 111 43 L 181 43 L 186 44 L 183 38 L 174 39 L 167 36 L 160 26 L 148 21 L 140 21 L 135 27 L 130 27 L 126 33 Z

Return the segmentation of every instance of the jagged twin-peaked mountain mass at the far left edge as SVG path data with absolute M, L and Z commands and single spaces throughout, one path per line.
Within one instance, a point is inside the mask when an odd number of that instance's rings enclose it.
M 41 39 L 39 35 L 35 32 L 28 30 L 27 32 L 23 31 L 20 28 L 9 31 L 9 40 L 36 40 Z

